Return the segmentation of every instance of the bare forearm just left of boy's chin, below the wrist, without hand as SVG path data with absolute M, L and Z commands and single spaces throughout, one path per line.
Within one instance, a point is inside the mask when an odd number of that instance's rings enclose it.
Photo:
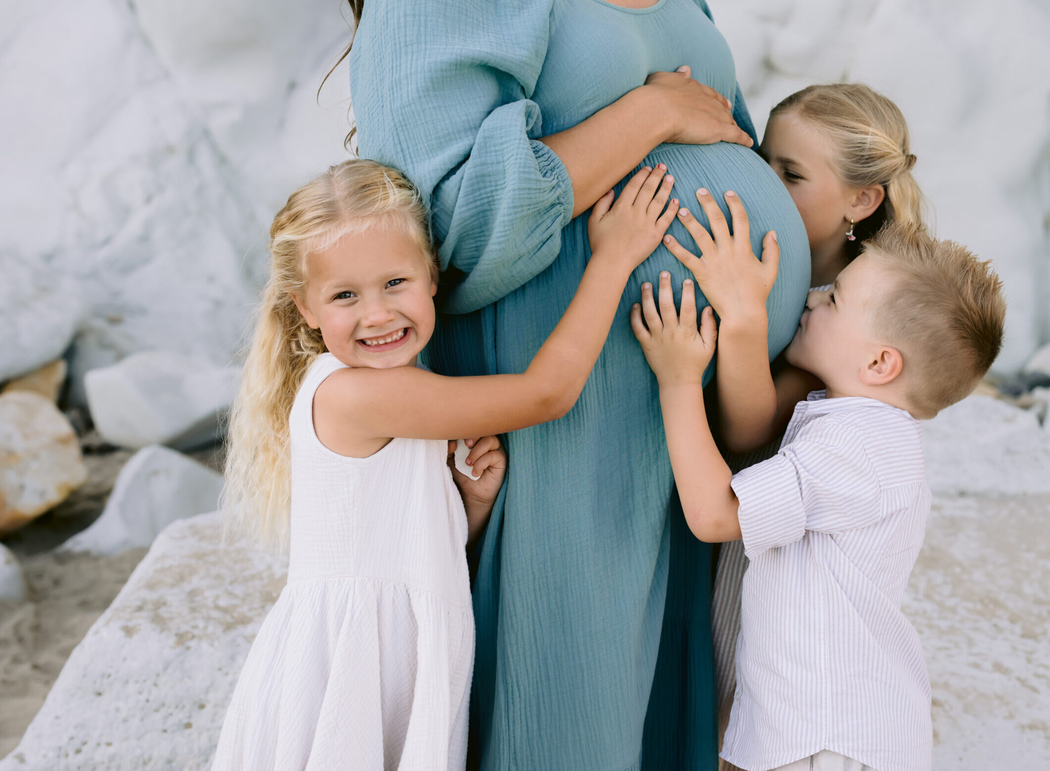
M 766 320 L 732 324 L 718 330 L 718 416 L 726 446 L 746 453 L 774 433 L 777 392 L 770 373 Z

